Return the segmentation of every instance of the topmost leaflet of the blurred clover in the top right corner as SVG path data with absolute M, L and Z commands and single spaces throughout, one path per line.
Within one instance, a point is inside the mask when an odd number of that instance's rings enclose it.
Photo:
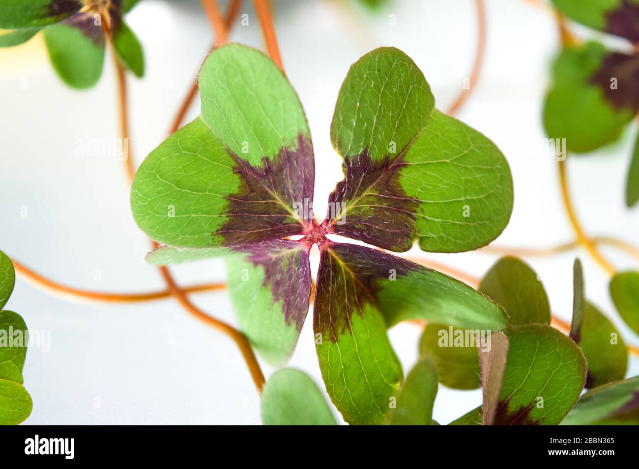
M 581 24 L 639 42 L 638 0 L 553 0 L 567 17 Z

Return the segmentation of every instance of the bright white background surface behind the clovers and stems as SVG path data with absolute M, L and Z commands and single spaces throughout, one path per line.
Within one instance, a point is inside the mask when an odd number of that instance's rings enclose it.
M 495 245 L 558 244 L 572 234 L 560 202 L 556 163 L 541 151 L 541 103 L 557 43 L 555 26 L 547 11 L 524 1 L 487 3 L 486 63 L 458 117 L 493 139 L 512 168 L 514 212 Z M 350 64 L 374 47 L 399 47 L 422 68 L 438 107 L 445 109 L 470 71 L 475 11 L 470 0 L 396 1 L 376 16 L 357 9 L 349 14 L 349 8 L 326 1 L 275 5 L 284 65 L 311 126 L 315 206 L 321 213 L 341 179 L 328 130 Z M 238 24 L 231 38 L 261 48 L 257 19 L 252 10 L 243 11 L 249 13 L 249 26 Z M 397 26 L 389 26 L 390 13 L 396 15 Z M 165 137 L 212 33 L 196 1 L 144 0 L 128 20 L 142 41 L 147 65 L 144 79 L 130 78 L 132 145 L 139 164 Z M 24 47 L 33 54 L 36 46 Z M 163 288 L 155 269 L 142 262 L 148 241 L 131 220 L 121 163 L 74 154 L 78 138 L 116 136 L 110 61 L 98 86 L 77 92 L 54 75 L 43 48 L 28 60 L 19 51 L 0 50 L 0 249 L 78 288 Z M 24 83 L 27 89 L 20 88 Z M 196 103 L 190 117 L 198 112 Z M 570 161 L 569 177 L 578 213 L 590 233 L 638 242 L 639 210 L 627 211 L 622 202 L 630 137 L 599 155 Z M 24 207 L 26 217 L 20 216 Z M 636 268 L 618 252 L 604 252 L 618 267 Z M 564 319 L 571 311 L 575 255 L 528 260 L 544 281 L 553 311 Z M 604 272 L 585 253 L 579 255 L 589 298 L 612 317 L 629 343 L 639 343 L 619 321 Z M 495 261 L 482 253 L 427 256 L 475 276 Z M 176 267 L 174 272 L 183 285 L 225 276 L 215 261 Z M 193 299 L 235 324 L 223 292 Z M 24 378 L 34 402 L 27 424 L 259 423 L 258 395 L 235 345 L 171 300 L 82 304 L 19 280 L 8 308 L 24 316 L 29 329 L 51 331 L 49 353 L 34 349 L 27 354 Z M 399 325 L 390 337 L 404 368 L 410 368 L 419 330 Z M 310 314 L 290 366 L 321 382 Z M 638 369 L 634 359 L 631 373 L 636 375 Z M 264 371 L 272 373 L 268 366 Z M 480 401 L 479 390 L 440 386 L 435 419 L 449 422 Z

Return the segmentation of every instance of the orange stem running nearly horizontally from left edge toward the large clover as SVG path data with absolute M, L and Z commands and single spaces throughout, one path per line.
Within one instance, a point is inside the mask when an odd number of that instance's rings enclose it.
M 160 300 L 171 296 L 171 292 L 169 292 L 169 290 L 159 290 L 157 292 L 146 293 L 104 293 L 94 292 L 91 290 L 81 290 L 80 288 L 67 287 L 66 285 L 50 280 L 37 272 L 32 271 L 29 267 L 20 264 L 15 259 L 12 259 L 12 262 L 15 267 L 15 271 L 20 275 L 20 277 L 31 283 L 31 285 L 66 300 L 107 303 L 139 303 L 144 301 Z M 226 285 L 224 285 L 224 283 L 202 283 L 185 287 L 183 290 L 187 293 L 197 293 L 224 290 L 225 288 Z

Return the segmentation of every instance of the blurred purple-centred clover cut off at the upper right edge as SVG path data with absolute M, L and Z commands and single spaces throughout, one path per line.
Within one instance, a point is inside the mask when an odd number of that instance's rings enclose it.
M 639 41 L 636 0 L 553 0 L 557 9 L 581 24 Z M 564 45 L 552 68 L 544 103 L 548 137 L 561 151 L 587 153 L 615 142 L 639 111 L 639 54 L 610 50 L 599 42 Z M 637 148 L 629 166 L 626 205 L 639 200 Z

